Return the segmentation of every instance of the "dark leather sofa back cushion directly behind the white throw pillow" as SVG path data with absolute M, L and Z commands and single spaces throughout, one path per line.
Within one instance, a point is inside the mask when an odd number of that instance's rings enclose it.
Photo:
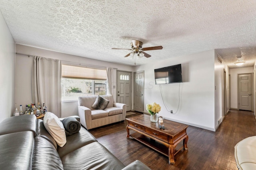
M 48 133 L 48 131 L 44 127 L 44 121 L 41 119 L 37 119 L 37 127 L 36 127 L 36 136 L 43 137 L 47 139 L 52 145 L 57 149 L 57 143 L 53 139 L 53 137 Z

